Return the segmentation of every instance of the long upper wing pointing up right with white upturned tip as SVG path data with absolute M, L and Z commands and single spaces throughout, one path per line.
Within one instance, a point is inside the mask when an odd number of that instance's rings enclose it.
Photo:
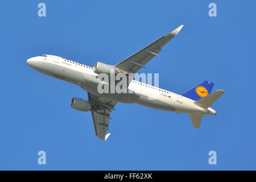
M 174 38 L 182 27 L 183 25 L 177 27 L 174 31 L 162 36 L 162 38 L 159 38 L 147 47 L 144 47 L 141 49 L 141 51 L 134 53 L 134 55 L 131 55 L 130 57 L 116 64 L 115 67 L 128 73 L 136 73 L 139 69 L 146 68 L 144 65 L 147 64 L 147 62 L 153 57 L 159 56 L 158 53 L 162 50 L 162 47 L 166 45 L 172 38 Z

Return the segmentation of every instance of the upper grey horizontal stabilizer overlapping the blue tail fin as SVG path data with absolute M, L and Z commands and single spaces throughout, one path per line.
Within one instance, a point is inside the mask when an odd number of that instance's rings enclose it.
M 200 107 L 208 108 L 210 105 L 213 104 L 222 94 L 224 94 L 224 90 L 217 90 L 216 92 L 213 92 L 209 94 L 208 96 L 205 96 L 203 98 L 200 98 L 199 100 L 195 101 L 195 104 Z

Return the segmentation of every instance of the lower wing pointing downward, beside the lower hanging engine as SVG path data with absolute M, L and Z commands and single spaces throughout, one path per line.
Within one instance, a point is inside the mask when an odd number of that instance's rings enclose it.
M 95 109 L 92 111 L 92 118 L 96 136 L 106 140 L 110 135 L 110 133 L 106 134 L 106 131 L 109 130 L 110 113 L 114 110 L 114 106 L 117 102 L 89 92 L 88 100 Z

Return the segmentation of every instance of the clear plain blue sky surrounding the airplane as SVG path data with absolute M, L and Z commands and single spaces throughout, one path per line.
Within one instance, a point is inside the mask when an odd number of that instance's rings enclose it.
M 46 17 L 38 4 L 46 3 Z M 217 5 L 217 17 L 208 5 Z M 255 1 L 1 2 L 0 169 L 255 170 Z M 107 141 L 95 137 L 90 113 L 73 110 L 76 85 L 30 68 L 51 54 L 93 65 L 116 64 L 160 36 L 184 28 L 147 64 L 159 85 L 184 93 L 203 80 L 226 93 L 199 130 L 188 114 L 118 104 Z M 47 164 L 39 165 L 38 151 Z M 208 152 L 217 152 L 209 165 Z

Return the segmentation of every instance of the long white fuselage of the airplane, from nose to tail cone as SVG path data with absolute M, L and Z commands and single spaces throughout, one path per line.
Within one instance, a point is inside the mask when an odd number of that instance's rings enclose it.
M 36 56 L 28 59 L 27 63 L 36 69 L 36 71 L 82 86 L 88 92 L 102 95 L 110 100 L 135 103 L 153 109 L 173 111 L 176 113 L 216 114 L 216 111 L 212 108 L 205 109 L 199 107 L 194 103 L 195 101 L 187 97 L 136 80 L 131 81 L 128 87 L 135 94 L 99 94 L 97 86 L 101 81 L 97 79 L 97 74 L 93 72 L 92 67 L 59 56 Z

